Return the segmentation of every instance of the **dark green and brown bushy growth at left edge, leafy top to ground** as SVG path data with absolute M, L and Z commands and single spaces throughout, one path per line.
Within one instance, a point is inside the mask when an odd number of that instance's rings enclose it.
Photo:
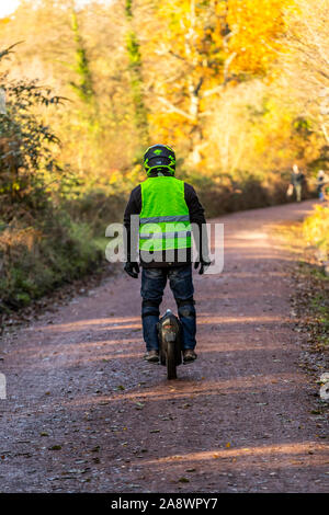
M 0 61 L 10 53 L 0 52 Z M 61 99 L 5 73 L 0 91 L 0 308 L 8 310 L 93 271 L 102 251 L 92 225 L 61 206 L 77 181 L 55 159 L 59 140 L 42 117 Z

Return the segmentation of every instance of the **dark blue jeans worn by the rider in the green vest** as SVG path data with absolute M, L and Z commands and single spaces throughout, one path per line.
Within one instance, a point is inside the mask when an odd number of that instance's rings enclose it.
M 192 265 L 159 268 L 143 268 L 141 273 L 141 318 L 143 335 L 147 351 L 159 348 L 157 322 L 167 277 L 178 306 L 183 329 L 183 348 L 194 348 L 196 317 L 193 300 Z

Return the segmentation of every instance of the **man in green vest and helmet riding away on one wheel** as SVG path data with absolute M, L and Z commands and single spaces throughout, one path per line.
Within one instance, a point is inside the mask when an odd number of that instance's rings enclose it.
M 203 274 L 211 264 L 204 209 L 193 186 L 175 179 L 175 156 L 170 147 L 149 147 L 144 156 L 144 167 L 147 180 L 133 190 L 124 214 L 127 260 L 124 270 L 129 276 L 138 277 L 138 254 L 134 251 L 138 236 L 132 224 L 132 215 L 138 215 L 145 359 L 150 363 L 159 360 L 157 322 L 169 279 L 182 324 L 183 360 L 189 363 L 196 359 L 192 232 L 198 253 L 194 267 L 200 266 L 198 273 Z

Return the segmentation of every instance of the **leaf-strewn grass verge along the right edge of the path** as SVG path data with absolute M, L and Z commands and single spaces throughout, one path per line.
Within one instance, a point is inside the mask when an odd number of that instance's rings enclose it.
M 300 334 L 299 367 L 313 379 L 315 414 L 322 416 L 329 403 L 320 396 L 321 376 L 329 371 L 329 277 L 318 259 L 316 245 L 305 237 L 307 219 L 277 227 L 282 243 L 295 255 L 292 266 L 291 317 Z M 326 381 L 327 382 L 327 381 Z

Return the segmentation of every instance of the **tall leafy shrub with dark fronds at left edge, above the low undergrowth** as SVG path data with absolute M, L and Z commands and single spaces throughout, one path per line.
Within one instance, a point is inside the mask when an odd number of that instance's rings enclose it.
M 14 46 L 0 52 L 1 62 Z M 10 221 L 29 210 L 43 209 L 48 199 L 45 176 L 56 180 L 61 174 L 54 158 L 59 140 L 36 108 L 57 105 L 63 99 L 35 81 L 9 81 L 5 71 L 0 75 L 0 91 L 5 94 L 0 113 L 0 208 Z

